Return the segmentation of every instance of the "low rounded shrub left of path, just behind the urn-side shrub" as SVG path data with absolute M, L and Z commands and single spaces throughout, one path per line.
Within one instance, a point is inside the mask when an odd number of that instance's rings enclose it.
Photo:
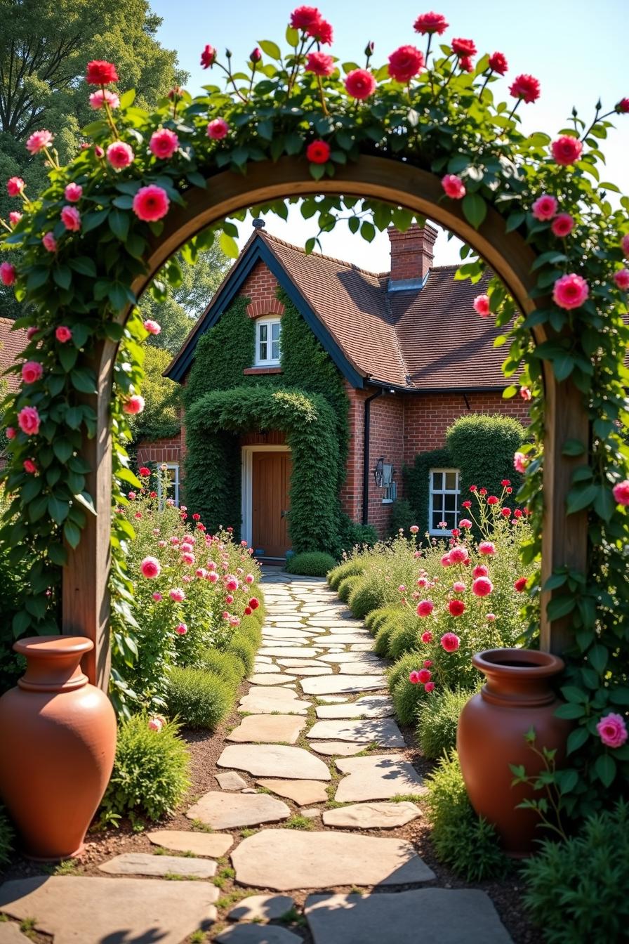
M 175 666 L 168 683 L 168 712 L 190 728 L 215 731 L 232 709 L 233 683 L 203 668 Z

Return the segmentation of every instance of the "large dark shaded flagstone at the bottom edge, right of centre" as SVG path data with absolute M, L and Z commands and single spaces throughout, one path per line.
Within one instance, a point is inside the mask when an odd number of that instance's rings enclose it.
M 314 944 L 512 944 L 491 899 L 472 888 L 309 895 L 305 912 Z

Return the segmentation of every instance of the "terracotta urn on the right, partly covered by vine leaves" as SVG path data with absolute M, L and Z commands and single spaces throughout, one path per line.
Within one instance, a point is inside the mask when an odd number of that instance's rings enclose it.
M 509 765 L 523 765 L 528 774 L 543 768 L 524 738 L 534 728 L 536 748 L 555 749 L 555 763 L 561 766 L 572 725 L 555 717 L 559 701 L 550 683 L 564 663 L 534 649 L 488 649 L 474 655 L 472 665 L 487 682 L 458 720 L 456 748 L 463 780 L 474 810 L 496 827 L 505 852 L 530 855 L 534 840 L 540 838 L 539 816 L 516 807 L 542 794 L 527 784 L 511 786 Z

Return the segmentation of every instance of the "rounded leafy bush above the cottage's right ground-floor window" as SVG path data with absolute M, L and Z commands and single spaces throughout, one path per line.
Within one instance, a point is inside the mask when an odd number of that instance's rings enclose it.
M 483 485 L 489 495 L 500 495 L 502 480 L 508 479 L 515 496 L 521 475 L 513 467 L 513 455 L 521 449 L 527 431 L 511 416 L 467 413 L 459 416 L 446 433 L 453 466 L 461 470 L 461 496 L 470 485 Z

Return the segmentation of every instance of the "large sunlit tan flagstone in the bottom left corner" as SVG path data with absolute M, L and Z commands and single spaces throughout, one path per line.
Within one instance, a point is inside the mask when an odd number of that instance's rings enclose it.
M 0 911 L 35 918 L 55 944 L 181 944 L 216 920 L 219 895 L 209 882 L 39 875 L 0 886 Z

